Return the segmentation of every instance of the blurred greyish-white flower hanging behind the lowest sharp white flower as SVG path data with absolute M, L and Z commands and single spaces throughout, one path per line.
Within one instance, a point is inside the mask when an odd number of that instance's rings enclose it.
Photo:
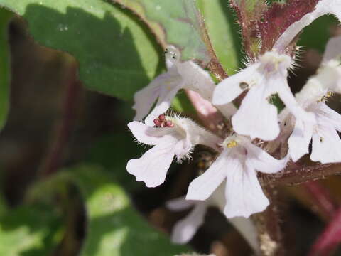
M 224 209 L 225 198 L 224 188 L 220 185 L 212 196 L 206 201 L 185 200 L 185 198 L 176 198 L 166 203 L 167 208 L 173 211 L 190 210 L 185 218 L 179 220 L 172 231 L 172 241 L 175 243 L 189 242 L 198 228 L 204 223 L 207 208 L 210 206 L 217 207 L 221 211 Z M 227 219 L 234 228 L 247 240 L 250 247 L 259 255 L 259 240 L 256 228 L 251 219 L 244 217 L 236 217 Z

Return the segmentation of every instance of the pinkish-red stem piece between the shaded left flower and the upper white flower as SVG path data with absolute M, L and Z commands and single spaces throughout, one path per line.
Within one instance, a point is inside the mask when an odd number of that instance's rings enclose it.
M 219 134 L 221 131 L 219 128 L 220 124 L 224 123 L 222 114 L 211 102 L 202 98 L 199 93 L 191 90 L 185 90 L 185 92 L 193 107 L 197 110 L 197 117 L 201 120 L 202 125 L 210 131 Z

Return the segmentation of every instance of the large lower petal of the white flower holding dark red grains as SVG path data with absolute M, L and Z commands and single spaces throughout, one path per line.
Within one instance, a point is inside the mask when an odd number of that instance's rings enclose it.
M 154 146 L 141 158 L 129 160 L 126 170 L 136 177 L 136 181 L 144 181 L 149 188 L 161 185 L 173 161 L 175 143 L 169 142 Z

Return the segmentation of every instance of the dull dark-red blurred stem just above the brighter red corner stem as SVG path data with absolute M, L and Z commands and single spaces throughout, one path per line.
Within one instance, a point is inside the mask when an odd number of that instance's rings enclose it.
M 324 186 L 318 181 L 308 181 L 303 183 L 303 186 L 310 193 L 315 206 L 318 207 L 325 217 L 331 219 L 335 216 L 335 213 L 337 213 L 337 205 Z

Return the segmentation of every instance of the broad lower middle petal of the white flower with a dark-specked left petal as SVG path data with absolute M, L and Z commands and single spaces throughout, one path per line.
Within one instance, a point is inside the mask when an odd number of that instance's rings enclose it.
M 266 84 L 254 85 L 232 117 L 234 131 L 251 139 L 275 139 L 279 134 L 277 108 L 270 104 Z

